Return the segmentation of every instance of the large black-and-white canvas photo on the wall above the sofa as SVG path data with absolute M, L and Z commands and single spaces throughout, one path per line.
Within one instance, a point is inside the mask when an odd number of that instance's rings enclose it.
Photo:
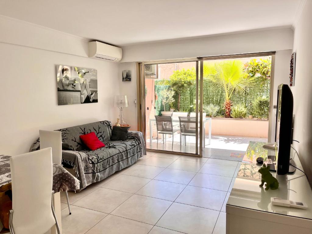
M 97 70 L 56 65 L 58 105 L 98 102 Z

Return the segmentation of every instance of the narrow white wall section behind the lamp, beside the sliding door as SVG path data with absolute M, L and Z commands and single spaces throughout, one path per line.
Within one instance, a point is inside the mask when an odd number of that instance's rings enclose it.
M 137 112 L 136 104 L 136 73 L 135 62 L 119 63 L 119 93 L 120 95 L 127 95 L 129 100 L 129 107 L 124 108 L 124 118 L 127 124 L 131 126 L 130 130 L 137 130 Z M 122 71 L 131 71 L 131 81 L 122 81 Z

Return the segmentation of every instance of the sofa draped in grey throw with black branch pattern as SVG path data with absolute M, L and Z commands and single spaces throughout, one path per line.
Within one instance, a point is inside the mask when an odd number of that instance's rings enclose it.
M 145 141 L 141 132 L 129 131 L 127 140 L 111 141 L 112 124 L 107 120 L 56 131 L 62 132 L 62 164 L 80 180 L 80 190 L 129 167 L 146 155 Z M 87 149 L 79 136 L 90 132 L 94 132 L 105 147 L 93 151 Z M 38 149 L 40 149 L 39 138 L 29 151 Z

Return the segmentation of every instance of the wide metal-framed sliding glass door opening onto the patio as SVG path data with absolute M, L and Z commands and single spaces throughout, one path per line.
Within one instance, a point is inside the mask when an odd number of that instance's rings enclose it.
M 227 159 L 270 141 L 273 73 L 274 52 L 139 63 L 147 149 Z

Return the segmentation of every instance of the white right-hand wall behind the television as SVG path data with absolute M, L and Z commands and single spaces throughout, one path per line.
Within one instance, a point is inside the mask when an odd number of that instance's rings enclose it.
M 307 0 L 295 26 L 294 51 L 296 54 L 294 95 L 294 143 L 299 152 L 301 164 L 310 178 L 312 186 L 312 1 Z

